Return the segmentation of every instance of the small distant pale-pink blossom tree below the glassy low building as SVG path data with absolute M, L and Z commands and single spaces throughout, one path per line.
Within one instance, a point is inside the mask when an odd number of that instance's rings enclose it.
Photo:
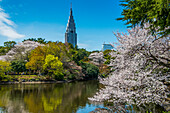
M 106 59 L 104 59 L 103 52 L 91 53 L 88 58 L 92 60 L 92 63 L 95 65 L 103 64 L 106 61 Z

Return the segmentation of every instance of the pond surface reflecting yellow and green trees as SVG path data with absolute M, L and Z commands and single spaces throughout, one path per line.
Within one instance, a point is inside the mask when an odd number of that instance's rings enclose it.
M 76 113 L 87 105 L 87 98 L 98 88 L 97 81 L 1 85 L 0 110 L 8 113 Z

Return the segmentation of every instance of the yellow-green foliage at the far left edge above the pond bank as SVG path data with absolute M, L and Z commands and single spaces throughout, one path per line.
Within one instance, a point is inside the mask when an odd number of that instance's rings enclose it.
M 5 76 L 5 73 L 11 70 L 11 63 L 0 60 L 0 80 Z

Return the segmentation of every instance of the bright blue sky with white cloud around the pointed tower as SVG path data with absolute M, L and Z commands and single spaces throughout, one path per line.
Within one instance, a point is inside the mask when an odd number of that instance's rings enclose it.
M 0 45 L 27 38 L 64 42 L 70 3 L 78 34 L 78 46 L 101 50 L 116 42 L 112 32 L 125 32 L 119 0 L 0 0 Z

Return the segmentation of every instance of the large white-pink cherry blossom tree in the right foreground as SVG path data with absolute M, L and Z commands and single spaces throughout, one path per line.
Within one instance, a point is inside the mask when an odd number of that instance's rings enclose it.
M 100 80 L 105 88 L 89 99 L 162 105 L 168 94 L 162 81 L 169 81 L 169 72 L 165 70 L 170 67 L 170 37 L 157 38 L 140 27 L 128 30 L 128 34 L 115 33 L 115 36 L 119 45 L 115 52 L 116 59 L 110 64 L 115 71 L 108 78 Z

